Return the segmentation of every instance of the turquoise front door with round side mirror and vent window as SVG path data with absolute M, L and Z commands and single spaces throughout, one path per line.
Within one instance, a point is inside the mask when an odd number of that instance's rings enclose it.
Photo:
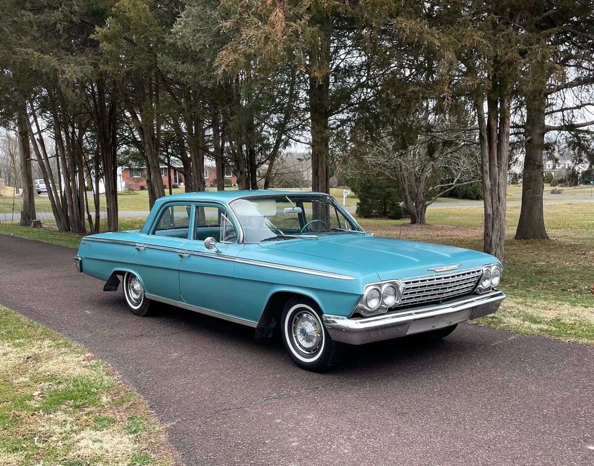
M 179 259 L 179 289 L 182 301 L 208 311 L 238 316 L 233 285 L 238 244 L 236 228 L 222 206 L 194 206 L 190 239 Z M 204 240 L 213 237 L 216 249 L 207 249 Z M 184 254 L 185 253 L 185 254 Z

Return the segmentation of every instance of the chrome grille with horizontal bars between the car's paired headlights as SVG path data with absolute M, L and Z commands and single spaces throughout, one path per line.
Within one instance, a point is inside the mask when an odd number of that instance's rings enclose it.
M 482 269 L 472 269 L 403 280 L 405 286 L 398 307 L 444 301 L 470 294 L 481 275 Z

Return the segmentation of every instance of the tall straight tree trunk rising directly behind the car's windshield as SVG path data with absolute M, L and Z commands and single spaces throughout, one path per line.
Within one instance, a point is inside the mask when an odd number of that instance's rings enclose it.
M 330 34 L 331 20 L 317 18 L 316 45 L 309 49 L 309 118 L 311 119 L 312 191 L 330 193 Z M 315 204 L 313 218 L 328 221 L 326 204 Z M 319 212 L 316 212 L 319 210 Z

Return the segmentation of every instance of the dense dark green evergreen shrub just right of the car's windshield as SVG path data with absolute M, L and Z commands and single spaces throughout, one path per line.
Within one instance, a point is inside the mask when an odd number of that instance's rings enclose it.
M 357 215 L 360 217 L 387 217 L 400 219 L 406 216 L 400 202 L 400 192 L 396 182 L 378 175 L 375 177 L 361 175 L 350 181 L 353 193 L 359 197 Z

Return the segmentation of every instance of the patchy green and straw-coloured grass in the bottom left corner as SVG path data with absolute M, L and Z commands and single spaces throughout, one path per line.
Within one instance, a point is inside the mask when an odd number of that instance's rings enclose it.
M 140 395 L 85 348 L 0 307 L 0 464 L 178 464 Z

